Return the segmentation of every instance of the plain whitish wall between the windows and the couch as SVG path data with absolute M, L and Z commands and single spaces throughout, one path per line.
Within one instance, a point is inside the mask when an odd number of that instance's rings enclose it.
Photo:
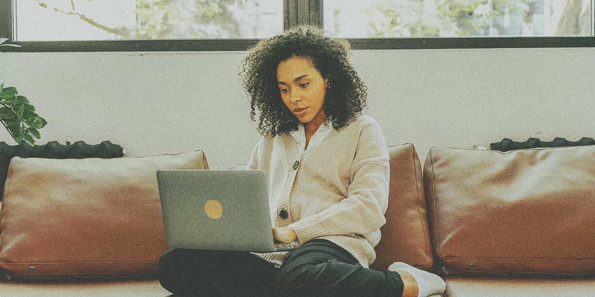
M 37 144 L 103 140 L 126 156 L 205 151 L 212 169 L 258 142 L 245 52 L 10 53 L 0 79 L 48 121 Z M 595 49 L 358 50 L 364 110 L 389 146 L 488 147 L 502 138 L 595 137 Z M 2 130 L 2 129 L 0 129 Z M 14 144 L 7 131 L 0 141 Z

